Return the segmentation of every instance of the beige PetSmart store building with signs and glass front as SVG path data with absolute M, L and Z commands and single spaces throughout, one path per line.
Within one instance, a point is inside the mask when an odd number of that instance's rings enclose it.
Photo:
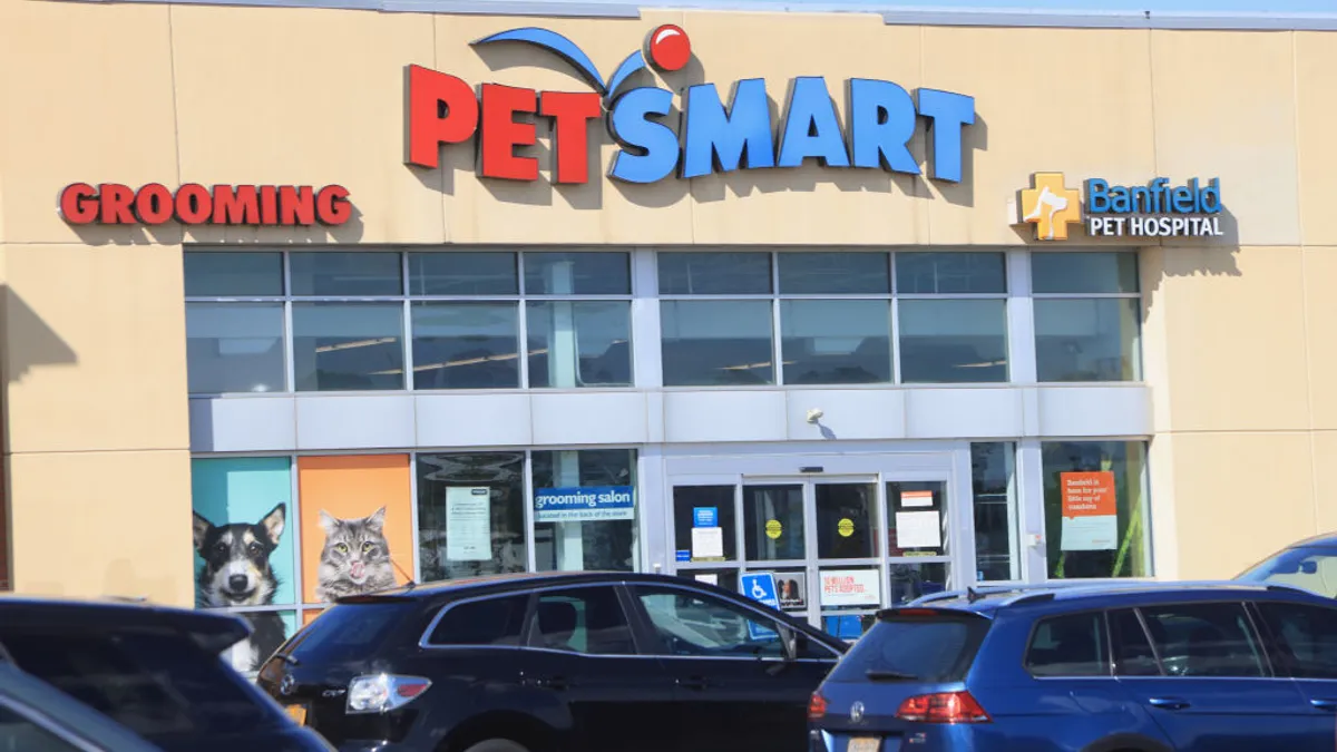
M 1337 527 L 1337 16 L 0 1 L 20 593 L 857 636 Z

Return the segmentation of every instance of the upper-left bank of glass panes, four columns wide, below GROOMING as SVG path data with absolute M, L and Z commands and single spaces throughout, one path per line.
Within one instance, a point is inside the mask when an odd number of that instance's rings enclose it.
M 630 253 L 190 250 L 185 258 L 191 393 L 632 383 Z

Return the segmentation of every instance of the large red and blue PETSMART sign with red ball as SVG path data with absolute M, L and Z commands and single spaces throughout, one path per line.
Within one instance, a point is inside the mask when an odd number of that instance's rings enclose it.
M 556 183 L 588 182 L 588 124 L 602 119 L 618 145 L 608 175 L 626 183 L 655 183 L 713 173 L 798 167 L 809 159 L 830 169 L 886 170 L 919 175 L 909 143 L 920 122 L 929 135 L 931 178 L 960 182 L 965 146 L 963 130 L 975 123 L 975 99 L 919 88 L 912 95 L 880 79 L 845 82 L 846 119 L 837 115 L 822 76 L 789 82 L 778 120 L 771 120 L 766 80 L 734 82 L 727 104 L 714 83 L 679 92 L 651 86 L 639 76 L 682 71 L 691 59 L 687 32 L 671 24 L 654 28 L 642 50 L 627 55 L 604 78 L 580 47 L 544 28 L 525 27 L 472 43 L 525 44 L 570 64 L 592 91 L 536 91 L 483 83 L 473 88 L 448 72 L 408 66 L 405 162 L 437 169 L 444 145 L 476 142 L 477 174 L 509 181 L 537 181 L 539 159 L 517 154 L 537 139 L 537 120 L 551 128 Z M 646 79 L 646 83 L 636 83 Z M 675 104 L 681 118 L 670 118 Z M 671 122 L 677 120 L 677 122 Z

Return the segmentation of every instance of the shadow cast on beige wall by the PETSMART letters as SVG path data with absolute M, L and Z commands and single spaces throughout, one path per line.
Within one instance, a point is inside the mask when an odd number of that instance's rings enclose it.
M 572 74 L 571 67 L 566 63 L 562 63 L 560 60 L 550 60 L 547 56 L 536 56 L 532 50 L 523 45 L 497 44 L 479 48 L 476 52 L 484 63 L 487 63 L 488 68 L 493 71 L 515 67 L 537 67 L 571 75 L 572 86 L 564 87 L 564 91 L 583 91 L 587 87 L 582 79 Z M 628 91 L 630 88 L 638 86 L 658 86 L 675 91 L 677 96 L 674 98 L 673 110 L 659 122 L 679 134 L 681 145 L 682 111 L 679 106 L 682 96 L 687 87 L 702 83 L 707 83 L 705 68 L 702 67 L 701 60 L 693 56 L 683 70 L 666 74 L 663 80 L 656 80 L 648 70 L 638 71 L 627 79 L 627 83 L 619 91 Z M 730 102 L 731 83 L 713 83 L 717 84 L 719 96 L 727 106 Z M 844 82 L 828 80 L 826 86 L 833 96 L 833 103 L 837 104 L 837 112 L 845 110 Z M 785 94 L 786 92 L 783 91 L 767 90 L 773 145 L 777 147 L 779 145 L 779 118 L 782 115 L 783 100 L 778 100 L 775 96 Z M 517 115 L 516 119 L 536 123 L 537 143 L 528 147 L 517 147 L 516 154 L 520 157 L 537 158 L 540 173 L 539 179 L 531 183 L 480 177 L 477 178 L 479 185 L 501 203 L 551 206 L 554 202 L 554 194 L 560 194 L 566 202 L 576 210 L 602 209 L 604 205 L 603 191 L 606 190 L 606 181 L 603 178 L 610 167 L 610 157 L 607 153 L 610 151 L 610 147 L 615 145 L 612 135 L 608 134 L 608 130 L 604 126 L 604 119 L 595 119 L 588 124 L 588 182 L 579 185 L 554 185 L 550 182 L 554 171 L 555 154 L 552 151 L 551 126 L 548 124 L 548 120 L 545 118 L 525 115 Z M 848 123 L 841 122 L 841 138 L 846 140 L 848 146 Z M 947 201 L 957 206 L 973 206 L 975 159 L 979 153 L 988 149 L 988 123 L 979 115 L 979 112 L 976 112 L 975 124 L 963 128 L 961 142 L 964 149 L 961 182 L 932 182 L 936 183 L 939 191 L 941 193 L 941 201 Z M 620 193 L 628 203 L 646 209 L 673 206 L 689 194 L 698 202 L 714 202 L 723 201 L 729 197 L 746 197 L 753 193 L 812 193 L 817 190 L 818 185 L 824 183 L 833 185 L 844 193 L 898 193 L 916 198 L 939 201 L 933 198 L 928 185 L 931 181 L 927 178 L 928 138 L 923 118 L 919 119 L 915 136 L 910 139 L 910 153 L 915 154 L 920 165 L 920 175 L 888 173 L 881 169 L 830 169 L 822 166 L 817 159 L 805 159 L 804 166 L 801 167 L 734 170 L 730 173 L 713 173 L 710 175 L 691 178 L 690 181 L 670 177 L 652 185 L 623 183 L 619 181 L 607 181 L 607 183 Z M 422 186 L 453 195 L 457 173 L 464 173 L 473 179 L 477 166 L 477 135 L 475 134 L 475 136 L 465 143 L 443 146 L 440 157 L 440 166 L 435 170 L 427 170 L 409 165 L 405 165 L 405 169 L 413 173 Z

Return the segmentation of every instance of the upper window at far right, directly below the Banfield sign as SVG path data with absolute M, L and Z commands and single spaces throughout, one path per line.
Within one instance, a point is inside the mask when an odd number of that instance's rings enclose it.
M 1135 253 L 1035 253 L 1031 276 L 1040 381 L 1142 379 Z

